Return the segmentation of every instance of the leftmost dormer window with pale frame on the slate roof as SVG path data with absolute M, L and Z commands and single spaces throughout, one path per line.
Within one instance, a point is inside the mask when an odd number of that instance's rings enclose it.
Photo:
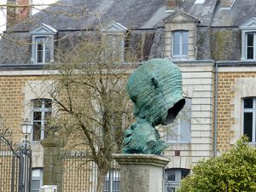
M 49 63 L 54 61 L 55 28 L 44 23 L 33 29 L 32 34 L 32 63 Z

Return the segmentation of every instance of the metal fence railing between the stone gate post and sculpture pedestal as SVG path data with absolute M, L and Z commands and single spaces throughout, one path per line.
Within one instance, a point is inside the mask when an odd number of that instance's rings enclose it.
M 96 192 L 97 166 L 86 151 L 70 151 L 63 158 L 63 192 Z M 104 180 L 102 192 L 119 192 L 119 166 L 113 161 Z

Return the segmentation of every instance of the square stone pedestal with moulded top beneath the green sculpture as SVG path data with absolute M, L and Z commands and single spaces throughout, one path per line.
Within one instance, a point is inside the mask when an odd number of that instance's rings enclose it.
M 170 161 L 154 154 L 113 154 L 121 167 L 121 192 L 163 192 L 164 167 Z

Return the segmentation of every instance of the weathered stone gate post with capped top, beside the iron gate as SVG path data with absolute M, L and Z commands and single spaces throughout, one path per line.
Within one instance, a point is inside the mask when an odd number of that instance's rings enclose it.
M 44 147 L 44 185 L 57 185 L 58 192 L 62 192 L 61 148 L 64 142 L 60 138 L 49 136 L 41 141 Z

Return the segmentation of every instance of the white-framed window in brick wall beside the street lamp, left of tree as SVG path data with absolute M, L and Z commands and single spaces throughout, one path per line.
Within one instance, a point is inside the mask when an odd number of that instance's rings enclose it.
M 37 99 L 33 101 L 33 141 L 40 141 L 47 137 L 49 133 L 47 121 L 51 116 L 51 106 L 52 102 L 50 99 Z

